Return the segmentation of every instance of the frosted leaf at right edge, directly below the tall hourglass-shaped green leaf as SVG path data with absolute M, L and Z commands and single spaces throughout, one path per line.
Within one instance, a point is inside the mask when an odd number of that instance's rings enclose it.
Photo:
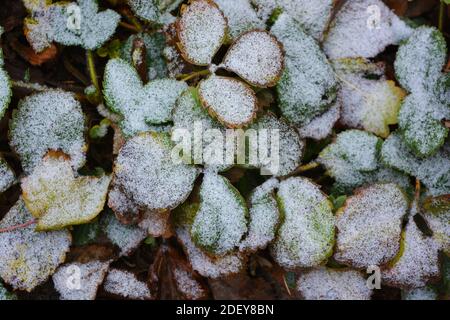
M 430 195 L 450 193 L 450 146 L 426 159 L 416 157 L 399 133 L 392 133 L 383 144 L 381 159 L 389 167 L 418 178 Z

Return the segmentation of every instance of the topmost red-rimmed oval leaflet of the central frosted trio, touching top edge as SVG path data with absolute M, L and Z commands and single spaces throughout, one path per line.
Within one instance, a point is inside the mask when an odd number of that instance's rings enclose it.
M 227 35 L 227 20 L 212 0 L 194 0 L 177 21 L 178 46 L 195 65 L 209 65 Z

